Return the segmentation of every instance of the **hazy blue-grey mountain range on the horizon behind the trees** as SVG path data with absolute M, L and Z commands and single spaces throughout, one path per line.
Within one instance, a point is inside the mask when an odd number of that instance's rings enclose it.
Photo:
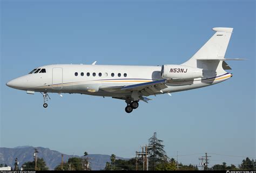
M 15 148 L 0 148 L 0 164 L 7 164 L 14 168 L 15 158 L 18 158 L 19 167 L 21 167 L 23 163 L 34 160 L 33 153 L 35 152 L 35 148 L 37 148 L 39 152 L 37 157 L 43 158 L 50 170 L 54 170 L 54 168 L 61 163 L 63 153 L 60 153 L 59 151 L 43 147 L 22 146 Z M 63 161 L 67 162 L 70 157 L 83 156 L 63 154 Z M 105 168 L 106 162 L 110 162 L 110 155 L 89 154 L 86 157 L 91 158 L 90 167 L 92 170 L 102 170 Z M 127 160 L 127 158 L 122 157 L 116 157 L 116 159 Z

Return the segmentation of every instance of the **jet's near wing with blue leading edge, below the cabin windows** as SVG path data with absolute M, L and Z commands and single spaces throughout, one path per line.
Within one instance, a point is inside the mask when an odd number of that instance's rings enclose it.
M 167 88 L 165 85 L 166 79 L 156 80 L 152 82 L 144 82 L 142 84 L 134 84 L 127 86 L 117 86 L 117 87 L 100 87 L 100 89 L 107 92 L 129 92 L 129 91 L 139 91 L 144 96 L 154 95 L 159 93 L 161 89 Z

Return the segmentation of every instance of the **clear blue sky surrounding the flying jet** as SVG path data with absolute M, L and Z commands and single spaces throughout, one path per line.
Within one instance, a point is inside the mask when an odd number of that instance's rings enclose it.
M 49 64 L 181 64 L 214 34 L 234 27 L 226 58 L 233 78 L 210 87 L 125 102 L 5 86 Z M 255 151 L 255 1 L 1 1 L 1 147 L 132 157 L 157 132 L 170 157 L 240 164 Z M 221 154 L 221 155 L 215 155 Z M 231 155 L 231 156 L 222 156 Z

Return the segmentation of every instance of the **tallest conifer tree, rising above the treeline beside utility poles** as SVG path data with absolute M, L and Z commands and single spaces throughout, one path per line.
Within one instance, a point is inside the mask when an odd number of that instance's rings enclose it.
M 164 145 L 161 144 L 163 140 L 157 139 L 157 133 L 154 132 L 153 136 L 149 139 L 149 145 L 152 146 L 152 148 L 149 148 L 149 165 L 151 170 L 156 169 L 156 165 L 161 162 L 167 161 L 167 156 L 164 150 Z

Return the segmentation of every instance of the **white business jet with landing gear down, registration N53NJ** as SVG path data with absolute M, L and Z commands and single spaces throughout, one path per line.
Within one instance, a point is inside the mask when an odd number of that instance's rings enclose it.
M 138 108 L 146 96 L 169 94 L 217 84 L 232 77 L 225 52 L 233 31 L 229 27 L 214 27 L 216 31 L 196 54 L 181 65 L 121 66 L 58 64 L 35 68 L 29 74 L 9 81 L 6 85 L 28 94 L 41 92 L 43 106 L 48 93 L 79 93 L 110 96 L 125 100 L 125 111 Z

